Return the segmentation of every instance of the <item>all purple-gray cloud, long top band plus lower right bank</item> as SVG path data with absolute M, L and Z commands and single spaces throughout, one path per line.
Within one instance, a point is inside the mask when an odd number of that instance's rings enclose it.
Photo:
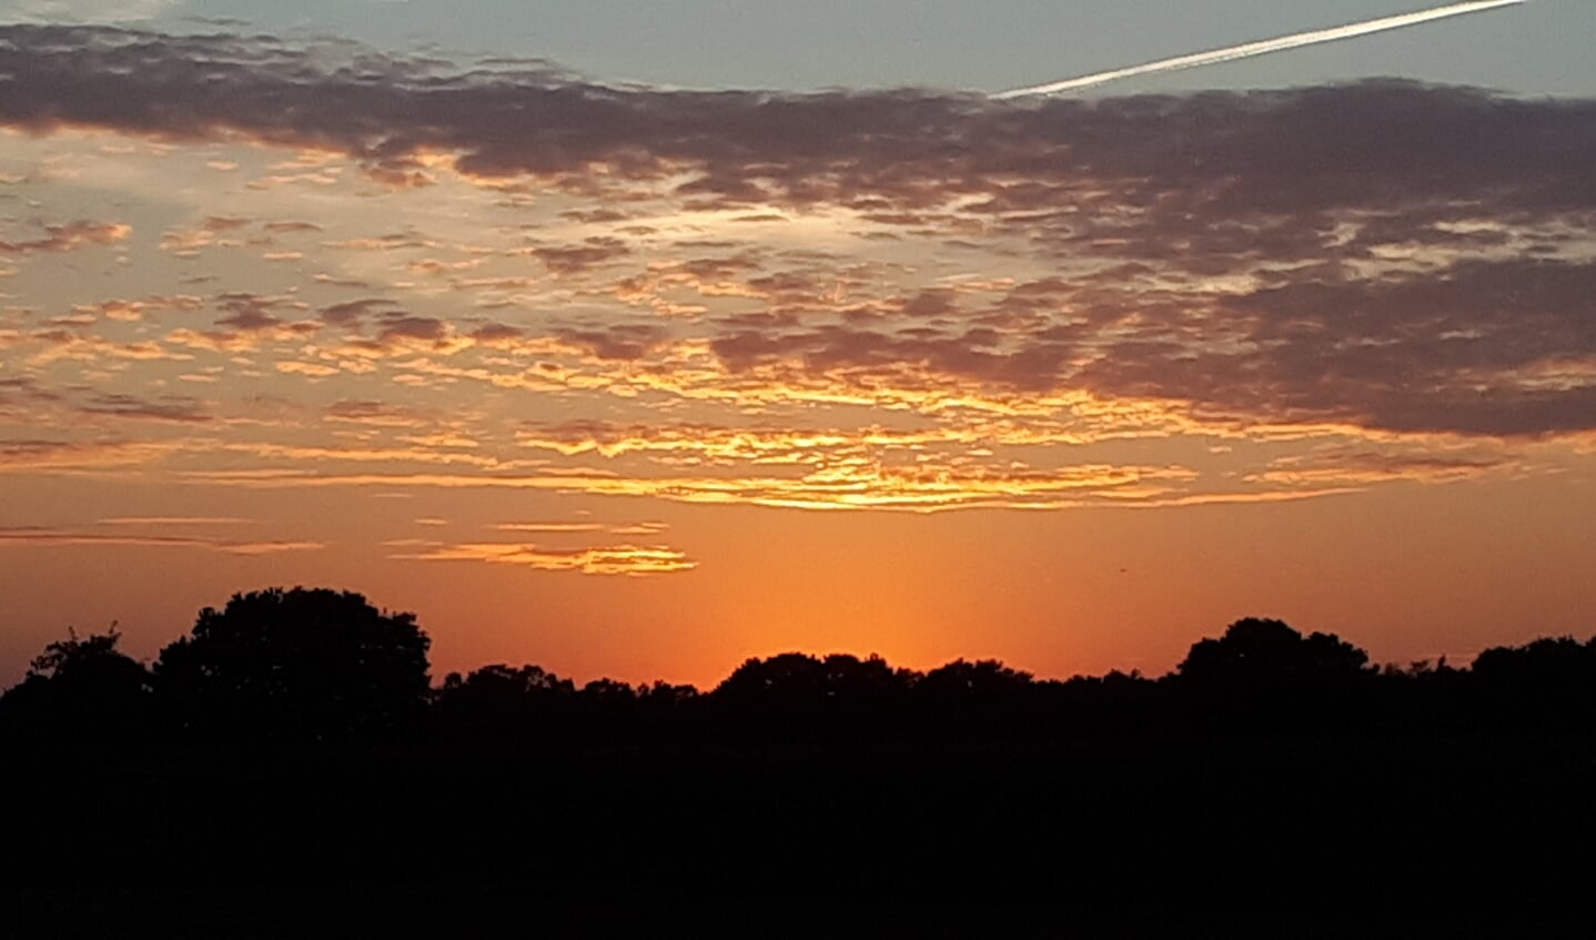
M 988 246 L 1058 268 L 996 300 L 921 286 L 819 321 L 811 306 L 838 311 L 820 302 L 843 281 L 838 263 L 776 271 L 728 255 L 651 268 L 737 279 L 766 300 L 702 321 L 734 375 L 1080 389 L 1199 417 L 1396 432 L 1596 431 L 1593 101 L 1390 80 L 1025 104 L 930 89 L 659 91 L 544 65 L 452 70 L 378 53 L 337 65 L 267 37 L 10 26 L 0 124 L 243 136 L 343 153 L 396 185 L 425 182 L 447 155 L 472 179 L 755 217 L 836 211 L 865 236 Z M 643 287 L 624 239 L 519 251 L 560 279 Z M 282 322 L 260 305 L 225 310 L 217 326 L 233 330 Z M 456 335 L 380 300 L 321 318 L 370 324 L 378 346 Z M 559 332 L 626 362 L 659 356 L 674 335 L 651 324 Z M 101 410 L 161 417 L 144 402 Z

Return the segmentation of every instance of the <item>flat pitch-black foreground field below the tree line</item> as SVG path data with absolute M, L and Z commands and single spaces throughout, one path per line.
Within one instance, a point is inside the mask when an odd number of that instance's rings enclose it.
M 1585 734 L 11 753 L 6 935 L 1591 935 Z

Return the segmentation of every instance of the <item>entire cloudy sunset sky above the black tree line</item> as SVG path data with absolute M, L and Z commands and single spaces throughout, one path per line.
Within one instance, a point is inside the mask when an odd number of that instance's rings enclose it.
M 1590 6 L 0 0 L 0 685 L 239 590 L 434 673 L 1379 662 L 1596 610 Z

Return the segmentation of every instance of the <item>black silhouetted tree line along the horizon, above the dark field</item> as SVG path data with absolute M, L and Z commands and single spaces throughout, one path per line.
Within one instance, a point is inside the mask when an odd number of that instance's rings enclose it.
M 1369 664 L 1334 634 L 1246 618 L 1168 675 L 1036 680 L 1002 662 L 929 672 L 878 656 L 749 659 L 709 693 L 654 681 L 578 686 L 538 666 L 433 685 L 409 613 L 353 592 L 268 589 L 200 611 L 144 666 L 105 634 L 49 643 L 0 697 L 16 739 L 140 747 L 514 741 L 1036 739 L 1171 734 L 1564 731 L 1596 725 L 1596 637 L 1486 650 L 1468 669 Z

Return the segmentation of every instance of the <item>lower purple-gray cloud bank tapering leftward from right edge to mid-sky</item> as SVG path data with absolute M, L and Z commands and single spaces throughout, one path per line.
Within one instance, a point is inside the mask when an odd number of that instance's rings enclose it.
M 875 329 L 721 318 L 710 348 L 733 372 L 859 386 L 1084 389 L 1398 432 L 1596 431 L 1596 262 L 1468 260 L 1207 295 L 1047 279 L 930 326 L 908 316 L 921 297 Z

